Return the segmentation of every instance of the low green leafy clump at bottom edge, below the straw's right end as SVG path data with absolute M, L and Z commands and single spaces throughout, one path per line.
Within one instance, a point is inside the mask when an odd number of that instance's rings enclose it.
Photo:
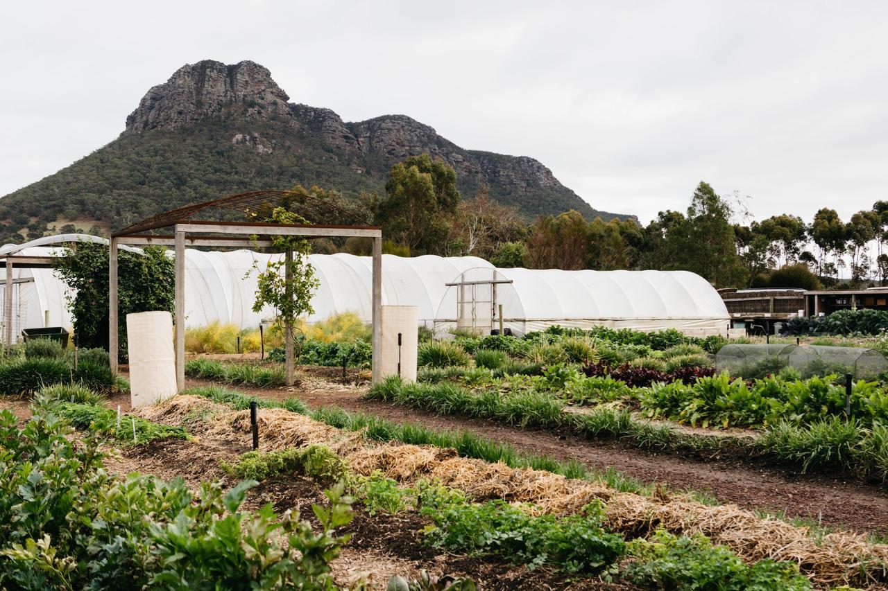
M 794 563 L 771 559 L 746 564 L 723 546 L 713 546 L 701 535 L 675 536 L 658 530 L 652 540 L 638 539 L 629 544 L 636 560 L 625 570 L 626 578 L 642 587 L 660 589 L 810 589 Z

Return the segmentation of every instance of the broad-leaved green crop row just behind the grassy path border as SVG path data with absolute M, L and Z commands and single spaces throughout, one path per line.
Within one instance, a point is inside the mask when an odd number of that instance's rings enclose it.
M 495 371 L 485 368 L 448 367 L 425 370 L 420 375 L 420 383 L 441 384 L 441 391 L 461 392 L 466 402 L 459 412 L 471 415 L 481 413 L 476 406 L 486 404 L 491 396 L 496 398 L 497 392 L 508 394 L 510 400 L 545 395 L 553 399 L 550 406 L 555 402 L 594 406 L 619 401 L 640 407 L 649 418 L 665 418 L 694 427 L 762 428 L 781 420 L 806 424 L 845 411 L 844 385 L 837 384 L 836 375 L 807 380 L 772 376 L 744 382 L 731 379 L 727 374 L 703 374 L 694 366 L 684 368 L 686 373 L 679 368 L 674 374 L 601 364 L 583 366 L 582 372 L 575 366 L 564 365 L 541 371 L 542 375 L 496 377 Z M 691 377 L 688 379 L 688 376 Z M 452 387 L 448 389 L 446 383 Z M 475 391 L 470 392 L 463 386 Z M 875 382 L 852 384 L 850 408 L 852 416 L 864 426 L 875 422 L 888 424 L 888 394 Z

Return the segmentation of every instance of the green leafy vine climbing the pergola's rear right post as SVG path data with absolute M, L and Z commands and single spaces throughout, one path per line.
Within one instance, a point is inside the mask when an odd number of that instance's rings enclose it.
M 250 218 L 270 224 L 308 223 L 304 217 L 286 207 L 250 213 Z M 284 331 L 287 385 L 292 386 L 295 365 L 293 330 L 300 316 L 313 313 L 312 296 L 320 282 L 314 276 L 313 266 L 308 262 L 308 255 L 311 253 L 308 240 L 294 236 L 273 236 L 271 242 L 272 248 L 282 251 L 284 256 L 277 260 L 269 259 L 265 270 L 259 272 L 253 311 L 262 311 L 266 305 L 274 308 L 275 322 Z

